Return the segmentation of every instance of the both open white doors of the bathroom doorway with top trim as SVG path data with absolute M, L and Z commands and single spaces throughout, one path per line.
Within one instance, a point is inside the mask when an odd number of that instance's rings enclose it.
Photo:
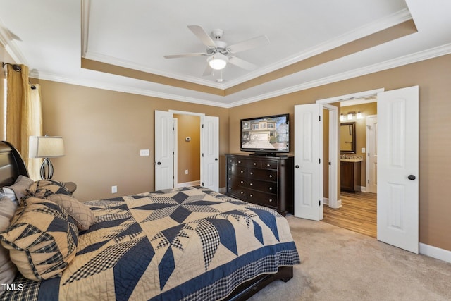
M 323 104 L 374 94 L 379 113 L 377 239 L 418 254 L 419 86 L 367 91 L 295 106 L 295 181 L 299 184 L 295 185 L 295 216 L 323 219 Z M 338 173 L 332 176 L 335 180 L 339 177 Z

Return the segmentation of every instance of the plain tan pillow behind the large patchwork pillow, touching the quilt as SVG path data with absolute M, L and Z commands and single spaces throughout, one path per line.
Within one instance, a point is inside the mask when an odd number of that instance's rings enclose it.
M 65 209 L 73 219 L 80 230 L 87 230 L 96 221 L 91 209 L 80 202 L 75 197 L 68 195 L 49 195 L 47 199 L 55 202 L 60 207 Z

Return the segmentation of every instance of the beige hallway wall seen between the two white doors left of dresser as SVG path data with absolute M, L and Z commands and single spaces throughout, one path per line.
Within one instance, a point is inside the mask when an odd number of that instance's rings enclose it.
M 178 183 L 200 180 L 200 117 L 174 114 L 178 128 Z M 190 137 L 190 141 L 186 138 Z M 188 171 L 188 174 L 185 174 Z

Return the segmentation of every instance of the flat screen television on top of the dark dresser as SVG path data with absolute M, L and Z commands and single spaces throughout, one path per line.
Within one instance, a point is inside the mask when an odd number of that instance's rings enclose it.
M 276 155 L 290 152 L 290 114 L 241 120 L 242 152 Z

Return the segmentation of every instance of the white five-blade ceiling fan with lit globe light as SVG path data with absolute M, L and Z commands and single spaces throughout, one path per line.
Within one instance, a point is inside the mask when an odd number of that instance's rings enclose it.
M 243 68 L 245 70 L 254 70 L 257 68 L 253 63 L 249 63 L 243 59 L 237 58 L 232 54 L 240 51 L 262 47 L 269 43 L 266 35 L 247 39 L 237 44 L 228 46 L 226 42 L 221 41 L 223 30 L 216 29 L 211 32 L 212 39 L 200 25 L 188 25 L 188 28 L 196 35 L 206 46 L 205 52 L 197 52 L 191 54 L 172 54 L 164 56 L 166 59 L 187 58 L 192 56 L 206 56 L 208 64 L 204 70 L 204 76 L 213 73 L 213 70 L 221 70 L 226 67 L 227 63 Z

